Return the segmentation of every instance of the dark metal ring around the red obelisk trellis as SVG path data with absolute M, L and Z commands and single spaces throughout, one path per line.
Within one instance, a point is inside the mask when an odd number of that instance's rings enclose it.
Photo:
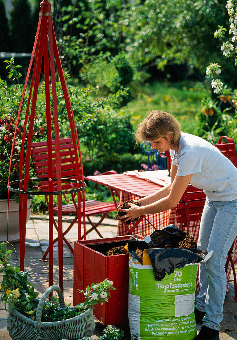
M 29 182 L 49 182 L 49 181 L 57 181 L 57 178 L 29 178 Z M 66 183 L 82 183 L 82 181 L 78 181 L 78 180 L 74 180 L 74 179 L 69 179 L 69 178 L 61 178 L 62 182 L 66 182 Z M 67 193 L 73 193 L 73 192 L 78 192 L 78 191 L 82 191 L 85 190 L 86 187 L 86 183 L 84 183 L 84 186 L 81 186 L 80 188 L 76 188 L 76 189 L 71 189 L 71 190 L 62 190 L 62 191 L 28 191 L 28 190 L 19 190 L 19 189 L 14 189 L 11 187 L 11 185 L 17 184 L 19 183 L 19 180 L 17 181 L 12 181 L 9 183 L 9 185 L 7 185 L 7 189 L 16 193 L 22 193 L 22 194 L 28 194 L 28 195 L 65 195 Z M 22 180 L 22 184 L 24 183 L 24 180 Z

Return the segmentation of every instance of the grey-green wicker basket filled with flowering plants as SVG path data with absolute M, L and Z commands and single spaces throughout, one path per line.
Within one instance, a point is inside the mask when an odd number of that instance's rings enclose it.
M 90 337 L 95 329 L 92 307 L 103 304 L 110 296 L 109 291 L 115 289 L 113 282 L 104 280 L 91 284 L 84 292 L 86 300 L 78 306 L 65 307 L 63 293 L 58 286 L 49 287 L 41 299 L 39 293 L 28 282 L 28 272 L 19 271 L 10 263 L 11 250 L 6 243 L 0 243 L 0 272 L 3 273 L 1 283 L 1 300 L 9 304 L 7 329 L 13 340 L 68 340 Z M 46 302 L 47 296 L 55 290 L 57 299 L 54 303 Z

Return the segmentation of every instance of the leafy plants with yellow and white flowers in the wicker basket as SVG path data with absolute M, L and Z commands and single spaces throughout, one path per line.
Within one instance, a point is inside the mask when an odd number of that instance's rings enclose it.
M 17 266 L 11 265 L 12 250 L 7 250 L 7 242 L 0 243 L 0 273 L 3 274 L 1 282 L 1 300 L 9 304 L 9 310 L 15 308 L 22 315 L 34 320 L 37 310 L 37 302 L 34 299 L 38 296 L 34 286 L 28 282 L 30 277 L 28 272 L 19 271 Z M 108 301 L 109 291 L 114 290 L 113 282 L 105 279 L 98 284 L 87 286 L 85 291 L 85 302 L 71 308 L 59 307 L 57 299 L 52 297 L 51 303 L 46 303 L 43 307 L 41 321 L 52 322 L 73 318 L 83 313 L 89 306 L 103 304 Z M 37 301 L 37 300 L 36 300 Z M 54 302 L 54 303 L 53 303 Z

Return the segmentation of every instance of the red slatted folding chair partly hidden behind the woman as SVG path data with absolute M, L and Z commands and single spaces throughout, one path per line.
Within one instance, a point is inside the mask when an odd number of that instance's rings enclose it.
M 223 142 L 223 138 L 227 140 L 227 142 Z M 220 137 L 218 144 L 215 145 L 221 153 L 223 153 L 227 158 L 231 160 L 231 162 L 237 168 L 237 158 L 236 158 L 236 149 L 235 143 L 232 138 L 223 136 Z M 189 185 L 185 190 L 180 202 L 178 203 L 175 209 L 175 216 L 177 223 L 181 223 L 181 229 L 186 229 L 185 231 L 189 234 L 190 222 L 200 223 L 202 217 L 202 211 L 205 204 L 206 195 L 203 190 L 193 187 Z M 237 280 L 236 280 L 236 272 L 235 265 L 232 258 L 233 249 L 235 245 L 236 239 L 233 242 L 231 249 L 228 252 L 226 263 L 225 263 L 225 272 L 227 273 L 229 265 L 231 266 L 234 279 L 228 280 L 227 282 L 234 282 L 234 291 L 233 295 L 234 300 L 237 302 Z

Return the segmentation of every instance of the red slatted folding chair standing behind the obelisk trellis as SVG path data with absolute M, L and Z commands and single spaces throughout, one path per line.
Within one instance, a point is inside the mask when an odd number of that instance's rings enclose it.
M 55 151 L 55 141 L 52 141 L 52 150 Z M 40 181 L 40 178 L 49 178 L 48 176 L 48 150 L 47 150 L 47 141 L 43 142 L 35 142 L 32 143 L 31 155 L 34 160 L 34 166 L 36 169 L 37 178 L 39 179 L 39 183 L 37 188 L 40 191 L 49 191 L 48 181 Z M 62 179 L 76 179 L 76 171 L 75 171 L 75 154 L 72 143 L 72 138 L 64 138 L 60 139 L 60 156 L 61 156 L 61 177 Z M 56 159 L 53 158 L 53 177 L 56 177 Z M 117 173 L 116 171 L 108 171 L 107 173 Z M 80 180 L 82 173 L 80 172 Z M 56 185 L 56 183 L 55 183 Z M 62 180 L 62 190 L 73 189 L 72 183 L 64 183 Z M 70 219 L 70 225 L 63 232 L 63 240 L 68 245 L 69 249 L 73 253 L 73 248 L 70 245 L 70 242 L 67 241 L 65 235 L 70 231 L 74 223 L 77 222 L 77 203 L 75 202 L 75 193 L 71 194 L 70 199 L 68 199 L 68 194 L 64 195 L 64 198 L 67 202 L 72 202 L 63 205 L 63 215 L 75 215 L 73 219 Z M 46 197 L 46 201 L 48 204 L 48 197 Z M 118 203 L 119 204 L 119 203 Z M 108 215 L 110 211 L 114 211 L 117 209 L 115 202 L 113 203 L 105 203 L 95 200 L 85 201 L 85 216 L 89 221 L 91 228 L 86 231 L 85 235 L 83 235 L 84 239 L 87 234 L 91 231 L 95 230 L 99 237 L 103 238 L 101 233 L 98 231 L 97 227 L 101 225 L 104 218 Z M 57 206 L 53 207 L 53 211 L 55 215 L 57 215 L 58 208 Z M 91 216 L 102 215 L 99 222 L 93 223 L 91 221 Z M 83 204 L 81 199 L 81 216 L 83 216 Z M 57 224 L 55 219 L 53 220 L 54 227 L 57 230 Z M 53 244 L 57 242 L 58 238 L 53 240 Z M 48 249 L 46 250 L 42 260 L 45 260 L 48 254 Z

